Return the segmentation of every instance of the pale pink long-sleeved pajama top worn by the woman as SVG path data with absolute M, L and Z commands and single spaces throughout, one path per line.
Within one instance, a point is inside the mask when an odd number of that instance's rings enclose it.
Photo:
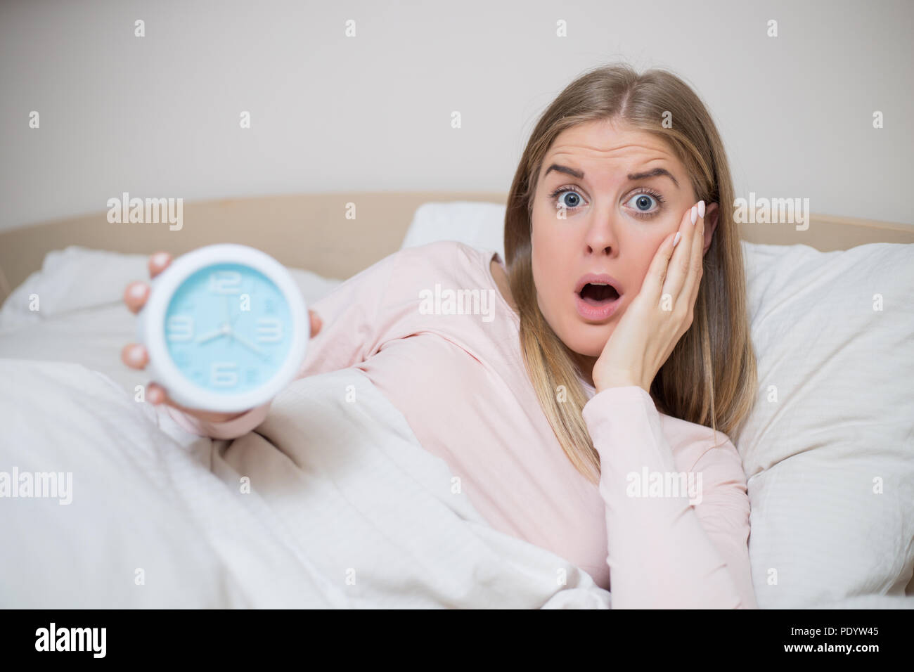
M 600 485 L 579 474 L 527 378 L 520 320 L 494 281 L 493 258 L 503 263 L 495 251 L 443 241 L 357 273 L 310 306 L 323 326 L 298 377 L 363 371 L 493 528 L 587 571 L 611 590 L 613 608 L 756 608 L 749 497 L 733 443 L 659 413 L 640 387 L 594 394 L 582 383 Z M 449 303 L 459 290 L 478 290 L 479 301 Z M 226 422 L 166 408 L 189 432 L 231 439 L 269 406 Z

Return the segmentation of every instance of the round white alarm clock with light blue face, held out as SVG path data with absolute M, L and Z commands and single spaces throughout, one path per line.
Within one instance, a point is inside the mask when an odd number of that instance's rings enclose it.
M 245 245 L 208 245 L 153 279 L 137 339 L 153 379 L 177 403 L 248 411 L 295 378 L 311 336 L 307 315 L 279 261 Z

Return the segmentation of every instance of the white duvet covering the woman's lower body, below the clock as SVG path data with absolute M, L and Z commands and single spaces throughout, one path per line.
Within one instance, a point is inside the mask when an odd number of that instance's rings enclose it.
M 356 369 L 295 381 L 234 442 L 78 364 L 3 359 L 0 379 L 0 472 L 71 475 L 0 499 L 0 606 L 610 607 L 452 494 Z

